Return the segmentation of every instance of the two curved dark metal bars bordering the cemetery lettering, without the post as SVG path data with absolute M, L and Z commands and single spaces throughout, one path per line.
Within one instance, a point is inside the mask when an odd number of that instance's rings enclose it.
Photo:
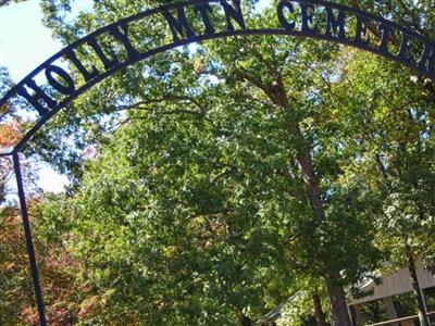
M 149 11 L 145 11 L 135 15 L 132 15 L 129 17 L 126 18 L 122 18 L 113 24 L 107 25 L 89 35 L 87 35 L 86 37 L 75 41 L 74 43 L 72 43 L 71 46 L 64 48 L 63 50 L 59 51 L 58 53 L 55 53 L 54 55 L 52 55 L 50 59 L 48 59 L 46 62 L 44 62 L 42 64 L 40 64 L 37 68 L 35 68 L 32 73 L 29 73 L 23 80 L 21 80 L 18 84 L 16 84 L 10 91 L 8 91 L 8 93 L 0 100 L 0 106 L 2 106 L 3 104 L 8 103 L 8 101 L 12 98 L 14 98 L 17 95 L 17 91 L 23 88 L 25 86 L 25 84 L 28 80 L 32 80 L 32 78 L 34 78 L 36 75 L 38 75 L 39 73 L 41 73 L 44 70 L 46 70 L 48 66 L 50 66 L 51 63 L 55 62 L 55 60 L 61 59 L 63 55 L 71 53 L 71 51 L 73 51 L 74 49 L 78 48 L 82 45 L 85 45 L 87 41 L 95 39 L 95 37 L 102 35 L 104 33 L 109 33 L 110 30 L 113 30 L 113 28 L 117 28 L 121 26 L 125 26 L 128 23 L 154 15 L 154 14 L 159 14 L 159 13 L 163 13 L 163 12 L 167 12 L 169 10 L 174 10 L 174 9 L 181 9 L 181 8 L 185 8 L 185 7 L 191 7 L 191 5 L 197 5 L 197 4 L 209 4 L 209 3 L 219 3 L 223 0 L 189 0 L 189 1 L 184 1 L 184 2 L 178 2 L 178 3 L 173 3 L 173 4 L 167 4 L 167 5 L 163 5 L 160 7 L 158 9 L 152 9 Z M 224 0 L 225 1 L 225 0 Z M 399 30 L 400 33 L 402 33 L 402 35 L 406 35 L 409 38 L 415 39 L 421 41 L 424 45 L 430 45 L 431 47 L 433 47 L 433 53 L 432 55 L 435 58 L 435 42 L 433 42 L 432 40 L 430 40 L 428 38 L 412 32 L 408 28 L 405 28 L 394 22 L 390 22 L 384 17 L 380 17 L 380 16 L 375 16 L 373 14 L 369 14 L 359 10 L 356 10 L 353 8 L 348 8 L 345 5 L 340 5 L 340 4 L 335 4 L 335 3 L 331 3 L 331 2 L 326 2 L 326 1 L 315 1 L 315 0 L 283 0 L 284 2 L 296 2 L 296 3 L 306 3 L 309 5 L 320 5 L 320 7 L 325 7 L 325 8 L 332 8 L 338 11 L 343 11 L 346 13 L 351 13 L 356 16 L 359 17 L 363 17 L 366 21 L 373 21 L 373 22 L 377 22 L 380 24 L 385 24 L 396 30 Z M 133 59 L 128 59 L 126 61 L 120 62 L 119 64 L 115 64 L 113 67 L 108 68 L 107 71 L 104 71 L 103 73 L 99 74 L 97 77 L 92 78 L 91 80 L 87 82 L 85 85 L 80 86 L 77 90 L 75 90 L 73 93 L 69 95 L 63 101 L 61 101 L 60 103 L 58 103 L 54 108 L 52 108 L 51 110 L 49 110 L 49 113 L 44 115 L 29 130 L 28 133 L 26 133 L 24 135 L 24 137 L 17 142 L 17 145 L 15 146 L 15 148 L 13 149 L 13 151 L 11 153 L 2 153 L 0 155 L 7 155 L 7 154 L 14 154 L 17 153 L 22 150 L 22 148 L 24 147 L 24 145 L 33 137 L 33 135 L 42 127 L 42 125 L 50 120 L 55 113 L 58 113 L 61 109 L 63 109 L 65 105 L 67 105 L 70 102 L 72 102 L 76 97 L 78 97 L 79 95 L 82 95 L 83 92 L 85 92 L 87 89 L 89 89 L 90 87 L 92 87 L 94 85 L 96 85 L 97 83 L 101 82 L 102 79 L 109 77 L 110 75 L 114 74 L 115 72 L 127 67 L 129 65 L 133 65 L 134 63 L 145 60 L 149 57 L 152 57 L 154 54 L 167 51 L 167 50 L 172 50 L 175 49 L 177 47 L 181 46 L 185 46 L 185 45 L 189 45 L 189 43 L 194 43 L 194 42 L 199 42 L 199 41 L 203 41 L 203 40 L 211 40 L 211 39 L 215 39 L 215 38 L 224 38 L 224 37 L 231 37 L 231 36 L 248 36 L 248 35 L 284 35 L 284 36 L 296 36 L 296 37 L 307 37 L 307 38 L 314 38 L 314 39 L 320 39 L 320 40 L 327 40 L 327 41 L 333 41 L 333 42 L 338 42 L 338 43 L 343 43 L 346 46 L 351 46 L 351 47 L 356 47 L 359 49 L 362 49 L 364 51 L 369 51 L 372 52 L 374 54 L 384 57 L 388 60 L 398 62 L 405 66 L 410 67 L 411 70 L 415 71 L 417 73 L 420 73 L 422 75 L 425 75 L 426 77 L 428 77 L 430 79 L 435 79 L 435 72 L 434 75 L 430 74 L 426 71 L 423 71 L 421 68 L 419 68 L 419 66 L 417 65 L 417 63 L 413 63 L 410 60 L 407 60 L 405 58 L 400 58 L 398 55 L 394 55 L 387 51 L 382 51 L 380 49 L 376 48 L 371 48 L 362 42 L 357 42 L 352 39 L 347 39 L 347 38 L 337 38 L 334 36 L 328 36 L 325 34 L 316 34 L 316 33 L 307 33 L 307 32 L 300 32 L 300 30 L 287 30 L 287 29 L 283 29 L 283 28 L 262 28 L 262 29 L 235 29 L 235 30 L 224 30 L 224 32 L 220 32 L 220 33 L 213 33 L 211 35 L 198 35 L 198 36 L 194 36 L 194 37 L 188 37 L 186 39 L 182 39 L 182 40 L 176 40 L 170 45 L 165 45 L 162 47 L 158 47 L 154 49 L 151 49 L 149 51 L 146 51 L 144 53 L 139 53 L 139 55 L 133 58 Z M 434 59 L 435 61 L 435 59 Z

